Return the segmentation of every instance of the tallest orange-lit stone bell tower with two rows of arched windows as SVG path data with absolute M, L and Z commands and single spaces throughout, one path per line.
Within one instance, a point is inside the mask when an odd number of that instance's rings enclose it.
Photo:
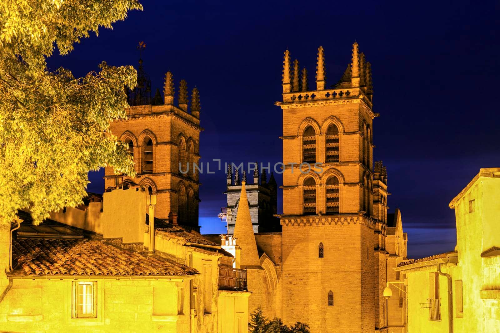
M 323 47 L 315 87 L 284 52 L 282 318 L 311 332 L 374 332 L 386 326 L 375 304 L 370 63 L 351 61 L 326 84 Z M 385 283 L 385 281 L 383 282 Z M 306 310 L 305 310 L 306 309 Z M 378 331 L 377 331 L 378 332 Z

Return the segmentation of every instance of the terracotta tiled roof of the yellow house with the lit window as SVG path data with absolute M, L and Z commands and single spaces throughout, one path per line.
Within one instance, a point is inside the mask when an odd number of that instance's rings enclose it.
M 86 239 L 12 242 L 12 275 L 187 276 L 198 272 L 154 257 Z

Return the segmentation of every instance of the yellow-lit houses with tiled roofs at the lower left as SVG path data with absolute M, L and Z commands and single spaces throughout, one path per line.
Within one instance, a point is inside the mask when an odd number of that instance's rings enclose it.
M 19 212 L 0 229 L 0 331 L 246 332 L 239 259 L 154 218 L 154 199 L 126 182 L 39 226 Z

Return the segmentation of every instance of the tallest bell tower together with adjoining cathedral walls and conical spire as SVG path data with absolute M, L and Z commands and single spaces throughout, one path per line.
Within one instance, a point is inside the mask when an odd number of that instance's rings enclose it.
M 404 307 L 383 297 L 387 280 L 396 279 L 388 269 L 405 259 L 406 236 L 398 211 L 388 225 L 385 167 L 372 168 L 378 113 L 370 63 L 354 43 L 342 77 L 327 86 L 322 47 L 316 59 L 309 89 L 307 70 L 284 53 L 276 102 L 283 112 L 282 231 L 250 235 L 250 222 L 239 211 L 236 217 L 249 311 L 261 306 L 266 316 L 307 323 L 313 333 L 405 332 Z

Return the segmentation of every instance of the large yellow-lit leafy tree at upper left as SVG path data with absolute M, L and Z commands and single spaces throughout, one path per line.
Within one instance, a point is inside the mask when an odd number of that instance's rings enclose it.
M 29 208 L 35 223 L 81 203 L 87 172 L 109 165 L 133 175 L 126 147 L 109 133 L 125 117 L 132 66 L 75 78 L 50 72 L 54 45 L 67 54 L 80 38 L 142 9 L 137 0 L 9 0 L 0 4 L 0 223 Z

